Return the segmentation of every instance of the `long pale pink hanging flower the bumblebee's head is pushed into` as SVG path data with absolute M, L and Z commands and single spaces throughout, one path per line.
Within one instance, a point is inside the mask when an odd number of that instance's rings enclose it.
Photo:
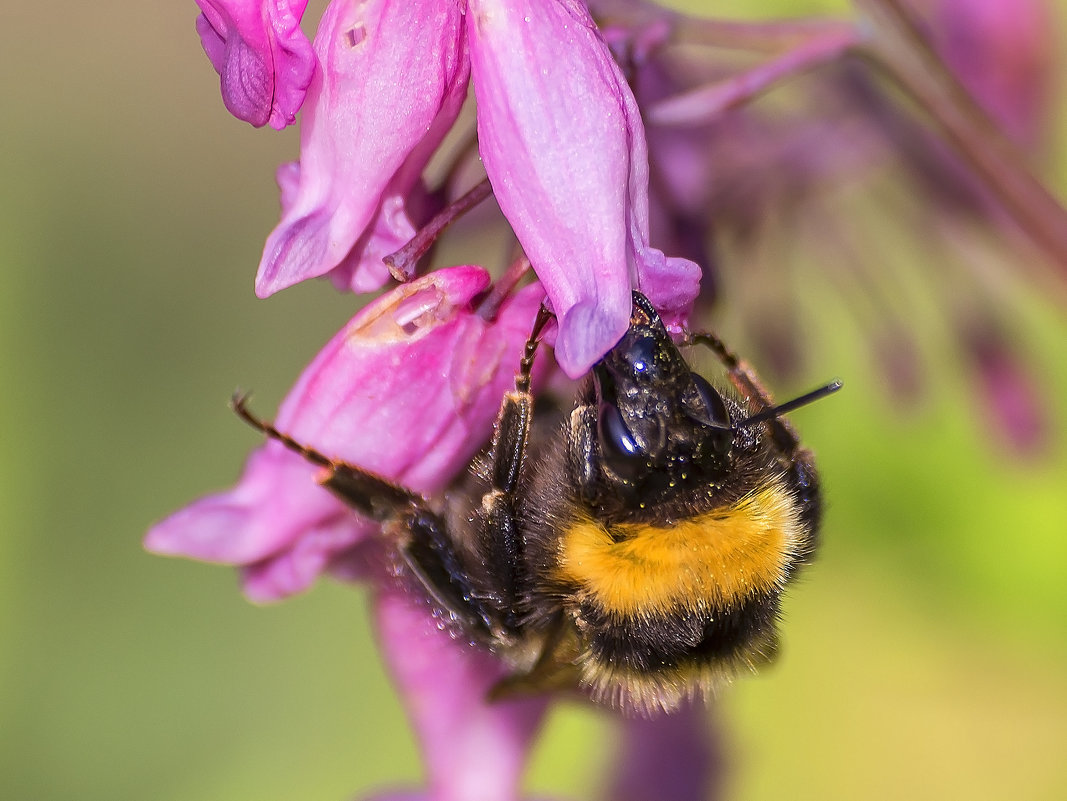
M 649 246 L 640 113 L 585 6 L 471 0 L 467 33 L 482 160 L 576 378 L 626 330 L 632 288 L 680 316 L 700 270 Z

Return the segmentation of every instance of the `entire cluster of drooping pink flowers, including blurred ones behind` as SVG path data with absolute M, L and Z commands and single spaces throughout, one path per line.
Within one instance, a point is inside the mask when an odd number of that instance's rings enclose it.
M 862 249 L 829 198 L 887 163 L 909 171 L 919 209 L 911 221 L 945 241 L 959 234 L 961 215 L 1009 218 L 1067 263 L 1058 207 L 1028 189 L 999 145 L 992 156 L 983 149 L 977 134 L 998 134 L 953 94 L 928 47 L 940 48 L 1005 130 L 1032 144 L 1048 50 L 1045 30 L 1019 15 L 1038 18 L 1039 0 L 929 0 L 929 41 L 899 0 L 858 2 L 862 23 L 751 25 L 644 0 L 332 0 L 314 42 L 300 28 L 306 0 L 197 3 L 196 29 L 226 108 L 276 129 L 301 115 L 299 160 L 277 171 L 282 219 L 267 238 L 257 294 L 312 277 L 352 292 L 389 287 L 313 361 L 276 424 L 417 492 L 440 492 L 488 440 L 542 299 L 557 320 L 555 359 L 579 378 L 625 330 L 632 289 L 681 326 L 702 268 L 698 313 L 720 277 L 754 287 L 753 340 L 770 364 L 794 363 L 799 337 L 781 251 L 805 242 L 840 283 L 870 292 L 881 265 L 857 255 Z M 968 11 L 975 5 L 981 13 Z M 1005 18 L 1012 25 L 997 21 Z M 857 54 L 887 67 L 957 149 L 891 102 Z M 915 64 L 929 85 L 915 78 Z M 816 68 L 790 84 L 799 102 L 751 102 Z M 477 266 L 427 272 L 434 237 L 489 194 L 478 186 L 464 194 L 481 170 L 522 256 L 495 284 Z M 765 257 L 768 243 L 786 240 Z M 537 281 L 520 289 L 526 267 Z M 877 311 L 872 341 L 887 354 L 887 373 L 907 384 L 917 371 L 906 323 L 889 304 L 862 301 Z M 1033 437 L 1039 424 L 1026 379 L 984 310 L 976 301 L 959 311 L 980 323 L 967 326 L 962 351 L 1006 430 Z M 421 738 L 426 797 L 516 798 L 544 700 L 487 704 L 501 666 L 452 642 L 392 587 L 375 524 L 315 475 L 268 443 L 233 490 L 158 524 L 147 546 L 238 565 L 257 600 L 300 592 L 327 572 L 371 581 L 382 647 Z M 615 796 L 657 787 L 665 801 L 681 801 L 706 791 L 703 726 L 692 710 L 632 724 L 626 742 L 636 755 Z M 672 749 L 644 758 L 651 740 L 676 737 L 696 756 Z

